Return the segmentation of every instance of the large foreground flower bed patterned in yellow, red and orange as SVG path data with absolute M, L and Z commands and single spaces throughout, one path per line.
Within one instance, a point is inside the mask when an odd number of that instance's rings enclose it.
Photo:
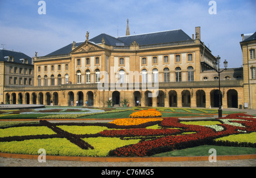
M 202 122 L 191 125 L 177 118 L 129 119 L 134 122 L 127 119 L 116 119 L 111 123 L 40 121 L 1 127 L 0 152 L 38 154 L 40 148 L 45 148 L 47 155 L 151 156 L 207 144 L 256 147 L 256 117 L 251 115 L 230 114 L 214 123 L 205 122 L 216 127 L 202 126 Z M 147 122 L 141 122 L 143 120 Z M 77 132 L 76 127 L 79 128 Z M 27 133 L 20 134 L 22 130 Z

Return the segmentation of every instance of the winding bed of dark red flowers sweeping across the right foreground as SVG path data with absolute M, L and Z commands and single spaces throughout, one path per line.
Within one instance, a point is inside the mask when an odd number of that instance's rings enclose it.
M 248 117 L 248 118 L 247 118 Z M 250 133 L 256 131 L 255 121 L 256 119 L 250 115 L 245 114 L 230 114 L 228 117 L 221 119 L 242 119 L 246 121 L 230 121 L 230 122 L 239 122 L 242 123 L 245 127 L 237 127 L 228 124 L 221 124 L 220 126 L 224 127 L 223 131 L 215 131 L 209 127 L 196 126 L 196 125 L 184 125 L 179 122 L 177 118 L 164 118 L 160 123 L 163 127 L 178 127 L 183 129 L 183 132 L 196 132 L 195 134 L 187 135 L 176 135 L 176 136 L 164 136 L 154 140 L 146 140 L 133 144 L 130 146 L 125 146 L 117 148 L 110 152 L 112 156 L 149 156 L 154 155 L 158 152 L 171 151 L 174 149 L 187 148 L 192 146 L 198 146 L 202 144 L 213 143 L 213 139 L 219 138 L 222 136 L 240 134 L 240 130 L 247 131 Z M 122 133 L 119 133 L 122 134 Z M 144 133 L 150 134 L 150 133 Z M 254 144 L 255 147 L 255 144 Z

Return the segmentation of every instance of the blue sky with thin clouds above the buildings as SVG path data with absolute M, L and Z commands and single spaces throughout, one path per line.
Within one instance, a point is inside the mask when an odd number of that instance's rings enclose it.
M 0 0 L 0 43 L 5 49 L 28 56 L 44 56 L 65 45 L 105 33 L 130 33 L 181 29 L 189 36 L 201 27 L 201 41 L 214 56 L 241 67 L 241 34 L 256 31 L 255 0 L 216 0 L 210 15 L 210 0 L 45 0 L 46 15 L 39 15 L 39 0 Z M 2 45 L 1 47 L 2 48 Z

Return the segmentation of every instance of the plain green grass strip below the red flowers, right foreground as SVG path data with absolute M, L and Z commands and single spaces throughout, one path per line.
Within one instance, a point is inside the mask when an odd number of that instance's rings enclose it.
M 162 156 L 209 156 L 209 150 L 214 148 L 218 155 L 246 155 L 256 154 L 256 148 L 249 147 L 224 147 L 224 146 L 199 146 L 193 148 L 186 148 L 183 150 L 174 150 L 170 152 L 164 152 L 162 154 L 153 155 L 153 157 Z M 217 157 L 218 159 L 218 157 Z

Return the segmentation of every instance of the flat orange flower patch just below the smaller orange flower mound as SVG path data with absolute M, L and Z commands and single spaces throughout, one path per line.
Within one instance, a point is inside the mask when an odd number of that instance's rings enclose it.
M 140 125 L 146 122 L 153 122 L 153 121 L 163 121 L 162 118 L 124 118 L 124 119 L 115 119 L 110 123 L 114 123 L 118 126 L 134 126 Z

